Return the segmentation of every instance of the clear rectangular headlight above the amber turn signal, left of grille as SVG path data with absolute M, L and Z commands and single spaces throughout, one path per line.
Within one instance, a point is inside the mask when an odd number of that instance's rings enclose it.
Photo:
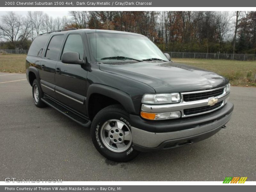
M 144 94 L 141 102 L 144 104 L 179 103 L 180 93 Z

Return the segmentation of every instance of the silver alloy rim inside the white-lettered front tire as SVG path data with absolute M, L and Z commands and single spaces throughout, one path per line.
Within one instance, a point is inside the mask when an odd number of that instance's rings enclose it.
M 132 144 L 132 133 L 128 126 L 119 120 L 111 119 L 102 125 L 100 137 L 111 151 L 124 152 Z

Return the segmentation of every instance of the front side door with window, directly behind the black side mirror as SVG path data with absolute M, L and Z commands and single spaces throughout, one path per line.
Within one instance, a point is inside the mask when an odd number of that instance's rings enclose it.
M 84 33 L 83 33 L 84 34 Z M 69 33 L 62 53 L 78 52 L 79 59 L 86 60 L 85 34 Z M 84 65 L 67 64 L 61 62 L 61 56 L 56 65 L 55 92 L 56 98 L 77 111 L 86 114 L 86 81 L 88 70 Z

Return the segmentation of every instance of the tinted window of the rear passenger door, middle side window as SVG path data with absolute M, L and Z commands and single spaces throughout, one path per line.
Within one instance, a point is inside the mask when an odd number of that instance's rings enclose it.
M 56 35 L 52 37 L 47 47 L 45 57 L 49 59 L 57 59 L 60 52 L 60 46 L 62 44 L 63 37 L 63 35 Z

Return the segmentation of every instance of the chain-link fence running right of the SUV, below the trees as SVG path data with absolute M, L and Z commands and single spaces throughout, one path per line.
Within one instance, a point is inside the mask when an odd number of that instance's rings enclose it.
M 164 52 L 169 53 L 171 58 L 179 59 L 226 59 L 226 60 L 256 60 L 253 54 L 222 54 L 222 53 L 186 53 L 186 52 Z

